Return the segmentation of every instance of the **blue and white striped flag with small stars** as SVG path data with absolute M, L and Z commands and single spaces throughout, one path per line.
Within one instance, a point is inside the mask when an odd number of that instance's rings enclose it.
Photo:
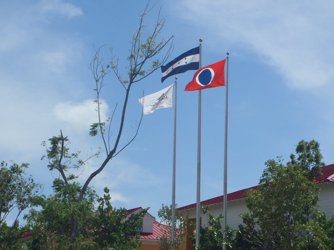
M 171 75 L 184 73 L 185 71 L 188 70 L 198 70 L 198 69 L 199 69 L 199 47 L 196 47 L 179 55 L 165 66 L 161 66 L 161 72 L 162 72 L 161 82 L 163 82 L 166 78 L 170 77 Z

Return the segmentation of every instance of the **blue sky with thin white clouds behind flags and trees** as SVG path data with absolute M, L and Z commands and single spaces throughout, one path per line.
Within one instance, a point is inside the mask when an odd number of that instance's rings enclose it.
M 40 160 L 42 141 L 62 129 L 82 158 L 102 146 L 88 135 L 97 119 L 89 69 L 94 46 L 106 45 L 107 61 L 107 48 L 113 46 L 125 74 L 128 41 L 144 6 L 135 0 L 0 3 L 0 159 L 30 163 L 28 173 L 44 185 L 45 194 L 57 173 Z M 325 163 L 334 163 L 332 1 L 161 0 L 145 19 L 145 31 L 161 6 L 161 35 L 175 35 L 170 59 L 198 46 L 199 38 L 202 66 L 230 52 L 228 192 L 257 184 L 264 162 L 281 155 L 288 159 L 302 139 L 319 141 Z M 194 73 L 178 75 L 179 206 L 196 201 L 197 92 L 182 91 Z M 174 81 L 161 84 L 160 78 L 157 71 L 133 86 L 121 143 L 134 134 L 142 91 L 151 94 Z M 104 117 L 124 94 L 112 73 L 107 83 Z M 144 116 L 136 140 L 91 182 L 99 194 L 108 186 L 115 206 L 150 206 L 153 216 L 161 203 L 171 203 L 173 112 Z M 224 87 L 202 91 L 202 200 L 223 193 L 224 112 Z M 90 160 L 80 180 L 101 160 Z

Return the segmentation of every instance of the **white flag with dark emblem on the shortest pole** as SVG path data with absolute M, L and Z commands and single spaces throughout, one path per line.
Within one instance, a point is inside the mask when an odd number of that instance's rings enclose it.
M 174 84 L 156 93 L 140 98 L 139 102 L 143 106 L 144 114 L 152 114 L 156 109 L 173 107 L 173 88 Z

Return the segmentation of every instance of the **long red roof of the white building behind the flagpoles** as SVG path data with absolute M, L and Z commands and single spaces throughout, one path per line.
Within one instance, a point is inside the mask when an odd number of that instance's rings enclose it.
M 323 174 L 323 177 L 316 178 L 317 184 L 324 183 L 324 182 L 334 182 L 334 164 L 327 165 L 324 168 L 322 168 L 321 173 Z M 252 186 L 251 188 L 248 188 L 248 189 L 243 189 L 243 190 L 239 190 L 239 191 L 227 194 L 227 201 L 246 198 L 246 191 L 250 189 L 258 189 L 258 185 Z M 200 204 L 201 205 L 212 205 L 212 204 L 222 203 L 223 201 L 224 201 L 224 195 L 221 195 L 215 198 L 211 198 L 209 200 L 201 201 Z M 195 207 L 196 207 L 196 203 L 193 203 L 190 205 L 179 207 L 178 210 L 182 211 L 182 210 L 194 209 Z

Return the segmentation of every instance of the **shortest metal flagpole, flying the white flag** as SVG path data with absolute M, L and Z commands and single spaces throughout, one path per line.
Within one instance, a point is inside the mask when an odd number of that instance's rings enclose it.
M 174 83 L 175 106 L 174 106 L 174 149 L 173 149 L 173 188 L 172 188 L 172 249 L 175 245 L 175 176 L 176 176 L 176 112 L 177 112 L 177 77 Z

